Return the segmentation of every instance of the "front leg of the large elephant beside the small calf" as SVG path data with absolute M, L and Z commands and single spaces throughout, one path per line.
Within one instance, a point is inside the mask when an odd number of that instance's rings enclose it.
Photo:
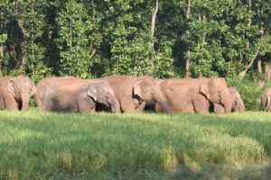
M 210 109 L 209 101 L 201 94 L 193 100 L 194 111 L 198 113 L 208 113 Z

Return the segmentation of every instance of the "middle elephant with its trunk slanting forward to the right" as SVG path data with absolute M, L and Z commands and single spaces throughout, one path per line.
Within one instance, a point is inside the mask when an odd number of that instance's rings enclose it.
M 107 76 L 122 112 L 143 112 L 146 104 L 159 103 L 169 113 L 164 94 L 153 76 Z

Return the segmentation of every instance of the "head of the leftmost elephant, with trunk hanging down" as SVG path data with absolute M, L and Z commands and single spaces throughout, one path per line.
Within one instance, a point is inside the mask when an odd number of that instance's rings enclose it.
M 20 106 L 22 105 L 21 110 L 27 110 L 30 98 L 36 92 L 36 87 L 28 76 L 16 76 L 8 82 L 7 91 L 14 96 Z

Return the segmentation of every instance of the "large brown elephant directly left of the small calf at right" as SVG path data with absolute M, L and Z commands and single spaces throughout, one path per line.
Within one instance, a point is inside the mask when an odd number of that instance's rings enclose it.
M 223 78 L 186 78 L 160 81 L 160 87 L 172 112 L 210 112 L 210 103 L 221 104 L 231 112 L 231 99 Z M 155 111 L 161 112 L 159 104 Z

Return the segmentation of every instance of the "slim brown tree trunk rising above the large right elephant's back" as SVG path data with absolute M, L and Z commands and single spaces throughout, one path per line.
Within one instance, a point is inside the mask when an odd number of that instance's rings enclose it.
M 191 0 L 187 1 L 187 9 L 185 14 L 185 21 L 186 23 L 189 23 L 190 20 L 190 14 L 191 14 Z M 188 35 L 190 34 L 189 29 L 185 31 L 185 33 Z M 185 76 L 190 77 L 190 64 L 191 64 L 191 45 L 187 44 L 187 51 L 186 51 L 186 60 L 185 60 Z

